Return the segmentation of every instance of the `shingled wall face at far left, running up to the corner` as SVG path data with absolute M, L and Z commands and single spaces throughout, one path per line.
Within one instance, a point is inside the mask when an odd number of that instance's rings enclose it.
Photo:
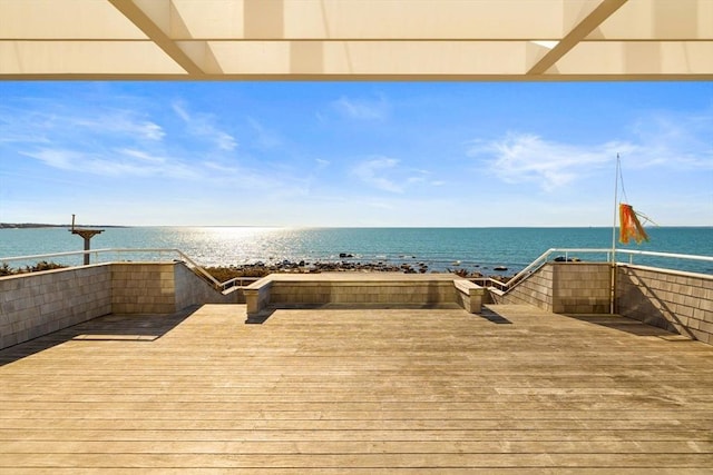
M 111 271 L 97 265 L 0 279 L 0 348 L 111 310 Z

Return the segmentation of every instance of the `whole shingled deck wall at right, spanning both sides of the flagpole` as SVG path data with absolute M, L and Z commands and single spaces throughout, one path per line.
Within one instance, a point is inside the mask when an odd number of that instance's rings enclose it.
M 607 263 L 548 263 L 498 304 L 528 304 L 557 314 L 608 314 Z M 713 276 L 617 264 L 614 311 L 713 344 Z

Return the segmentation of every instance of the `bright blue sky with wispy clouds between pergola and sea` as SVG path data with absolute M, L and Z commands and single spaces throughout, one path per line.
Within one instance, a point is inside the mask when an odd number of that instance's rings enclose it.
M 611 226 L 617 154 L 713 226 L 713 82 L 0 82 L 2 222 Z

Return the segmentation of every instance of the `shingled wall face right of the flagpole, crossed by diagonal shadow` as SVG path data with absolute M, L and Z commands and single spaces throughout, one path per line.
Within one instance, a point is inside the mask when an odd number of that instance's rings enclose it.
M 622 315 L 713 344 L 713 276 L 622 265 L 616 303 Z

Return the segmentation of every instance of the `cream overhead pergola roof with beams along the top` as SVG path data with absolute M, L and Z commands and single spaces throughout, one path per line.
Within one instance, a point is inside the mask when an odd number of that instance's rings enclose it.
M 713 0 L 0 0 L 0 79 L 711 80 Z

